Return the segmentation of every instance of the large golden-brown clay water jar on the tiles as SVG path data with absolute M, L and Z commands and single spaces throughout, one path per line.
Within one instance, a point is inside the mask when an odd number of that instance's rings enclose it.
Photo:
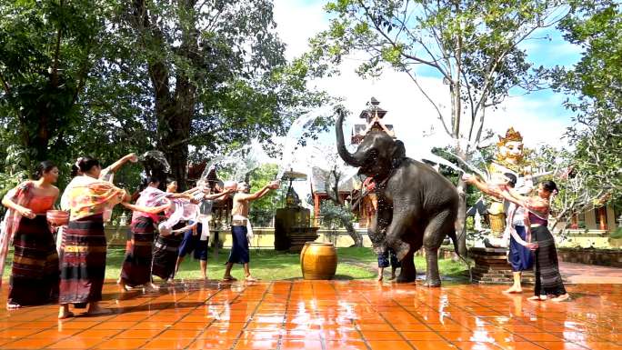
M 300 268 L 305 279 L 332 279 L 336 263 L 336 250 L 332 243 L 306 242 L 300 252 Z

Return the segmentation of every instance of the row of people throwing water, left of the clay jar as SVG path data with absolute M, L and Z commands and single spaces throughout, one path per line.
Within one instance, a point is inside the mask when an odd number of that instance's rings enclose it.
M 74 315 L 69 311 L 70 304 L 75 308 L 88 307 L 88 315 L 110 313 L 99 305 L 107 250 L 104 223 L 117 204 L 134 212 L 117 281 L 124 290 L 139 285 L 157 288 L 152 275 L 170 281 L 184 256 L 192 250 L 201 261 L 201 272 L 206 278 L 211 201 L 229 195 L 233 195 L 233 246 L 224 280 L 235 280 L 231 268 L 236 263 L 245 266 L 246 280 L 255 280 L 248 266 L 249 202 L 278 188 L 278 182 L 254 194 L 248 193 L 248 185 L 232 181 L 226 182 L 223 189 L 217 188 L 220 192 L 216 194 L 210 193 L 206 183 L 177 194 L 174 183 L 167 184 L 165 192 L 158 189 L 159 179 L 150 178 L 135 204 L 131 204 L 132 195 L 113 184 L 113 175 L 126 162 L 136 160 L 134 154 L 126 155 L 102 169 L 92 157 L 79 158 L 74 177 L 61 196 L 61 209 L 69 213 L 69 220 L 60 227 L 46 219 L 60 195 L 54 185 L 58 167 L 52 162 L 42 162 L 35 180 L 25 181 L 5 195 L 2 204 L 8 212 L 0 235 L 0 269 L 4 267 L 8 245 L 13 242 L 15 247 L 8 309 L 59 303 L 58 318 Z M 53 231 L 57 231 L 57 241 Z

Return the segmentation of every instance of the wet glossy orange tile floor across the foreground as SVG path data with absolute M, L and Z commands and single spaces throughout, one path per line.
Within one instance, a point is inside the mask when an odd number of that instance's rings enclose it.
M 622 349 L 622 285 L 568 285 L 567 303 L 503 286 L 372 281 L 105 285 L 113 315 L 56 320 L 57 306 L 0 312 L 5 349 Z M 6 288 L 0 295 L 6 300 Z

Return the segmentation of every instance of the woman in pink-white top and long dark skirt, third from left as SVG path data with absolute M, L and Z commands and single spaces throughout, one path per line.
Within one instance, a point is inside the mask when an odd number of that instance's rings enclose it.
M 124 289 L 137 285 L 147 285 L 152 290 L 157 289 L 151 280 L 154 225 L 159 222 L 159 216 L 156 214 L 167 209 L 171 203 L 166 199 L 167 194 L 157 189 L 160 185 L 157 178 L 150 178 L 148 184 L 136 201 L 136 206 L 144 208 L 135 210 L 132 215 L 130 225 L 132 243 L 125 254 L 119 281 L 119 285 Z

